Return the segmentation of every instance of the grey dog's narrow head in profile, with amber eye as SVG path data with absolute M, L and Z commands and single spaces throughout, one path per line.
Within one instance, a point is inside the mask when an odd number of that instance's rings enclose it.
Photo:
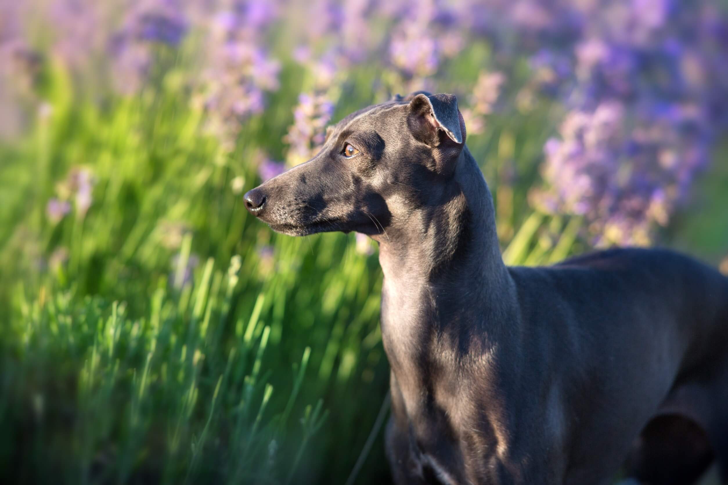
M 464 145 L 454 95 L 397 95 L 328 127 L 313 159 L 246 193 L 245 207 L 291 236 L 375 236 L 438 203 Z

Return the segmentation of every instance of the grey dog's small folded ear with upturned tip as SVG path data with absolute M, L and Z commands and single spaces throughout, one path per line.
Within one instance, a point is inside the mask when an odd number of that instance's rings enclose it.
M 455 95 L 420 93 L 409 103 L 407 124 L 414 137 L 432 147 L 441 143 L 465 143 L 465 123 Z M 445 135 L 445 136 L 443 136 Z

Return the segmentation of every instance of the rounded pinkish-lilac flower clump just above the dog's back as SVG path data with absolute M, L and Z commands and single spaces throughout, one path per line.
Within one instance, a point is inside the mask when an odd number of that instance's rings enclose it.
M 561 139 L 545 149 L 544 177 L 554 191 L 535 199 L 547 210 L 585 216 L 596 244 L 648 244 L 652 226 L 668 223 L 706 159 L 703 143 L 676 129 L 695 122 L 695 113 L 666 109 L 679 121 L 616 101 L 569 113 Z

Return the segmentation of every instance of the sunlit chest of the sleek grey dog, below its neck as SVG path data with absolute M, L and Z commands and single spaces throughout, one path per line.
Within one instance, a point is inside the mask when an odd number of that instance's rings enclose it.
M 494 431 L 494 423 L 503 422 L 502 406 L 486 404 L 502 378 L 491 377 L 494 348 L 472 332 L 459 332 L 466 323 L 472 322 L 438 308 L 437 294 L 427 286 L 385 277 L 381 331 L 393 409 L 400 431 L 409 435 L 413 473 L 422 468 L 443 484 L 464 481 L 466 463 L 482 462 L 507 441 Z

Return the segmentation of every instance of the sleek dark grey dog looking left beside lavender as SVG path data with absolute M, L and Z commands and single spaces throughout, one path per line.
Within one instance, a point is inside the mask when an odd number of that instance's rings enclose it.
M 397 95 L 244 196 L 379 243 L 395 482 L 728 484 L 728 278 L 664 249 L 507 267 L 465 138 L 454 95 Z

